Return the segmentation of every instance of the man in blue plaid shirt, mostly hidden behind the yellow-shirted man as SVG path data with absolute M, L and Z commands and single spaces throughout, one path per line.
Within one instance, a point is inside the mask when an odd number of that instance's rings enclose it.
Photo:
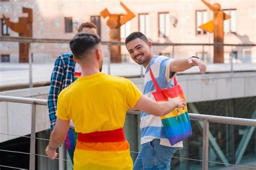
M 91 22 L 82 23 L 78 32 L 93 33 L 97 35 L 97 27 Z M 73 59 L 73 53 L 63 53 L 59 55 L 54 64 L 51 74 L 50 92 L 48 97 L 48 110 L 51 123 L 51 131 L 56 124 L 57 99 L 60 91 L 68 87 L 73 81 L 80 77 L 81 70 L 79 64 Z M 73 152 L 76 146 L 76 132 L 70 128 L 65 139 L 65 146 L 68 149 L 71 161 L 73 162 Z

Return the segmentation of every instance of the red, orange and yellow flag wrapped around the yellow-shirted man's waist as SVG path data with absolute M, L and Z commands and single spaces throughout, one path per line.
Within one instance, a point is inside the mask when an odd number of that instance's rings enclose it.
M 130 146 L 123 128 L 78 133 L 74 169 L 132 169 Z

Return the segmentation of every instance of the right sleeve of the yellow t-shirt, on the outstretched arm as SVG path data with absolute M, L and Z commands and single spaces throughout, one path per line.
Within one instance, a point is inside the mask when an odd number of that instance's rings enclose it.
M 142 92 L 132 83 L 131 80 L 125 79 L 126 104 L 128 108 L 133 108 L 142 97 Z

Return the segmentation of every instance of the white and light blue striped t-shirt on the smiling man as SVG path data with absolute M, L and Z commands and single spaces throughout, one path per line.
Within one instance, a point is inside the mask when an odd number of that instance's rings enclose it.
M 144 91 L 143 94 L 151 99 L 154 99 L 152 92 L 156 91 L 153 81 L 150 77 L 149 68 L 151 67 L 154 77 L 157 80 L 161 89 L 168 89 L 174 86 L 173 80 L 170 78 L 170 63 L 173 59 L 165 56 L 156 56 L 151 59 L 150 64 L 146 67 L 145 79 L 144 79 Z M 171 76 L 174 72 L 171 73 Z M 166 137 L 163 124 L 160 117 L 156 117 L 152 114 L 142 112 L 140 115 L 140 132 L 142 139 L 141 144 L 150 142 L 153 139 L 160 139 L 160 145 L 169 146 L 171 144 Z M 183 147 L 183 142 L 178 142 L 173 147 Z

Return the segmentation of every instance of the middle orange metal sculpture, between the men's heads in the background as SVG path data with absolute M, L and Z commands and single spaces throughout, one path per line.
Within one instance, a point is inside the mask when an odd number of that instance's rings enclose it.
M 129 10 L 122 2 L 120 2 L 121 6 L 127 12 L 126 15 L 119 13 L 119 14 L 111 14 L 109 10 L 104 9 L 100 12 L 100 15 L 103 18 L 109 17 L 107 20 L 107 25 L 110 27 L 110 40 L 119 42 L 121 40 L 120 36 L 120 26 L 125 24 L 126 22 L 130 21 L 133 17 L 135 17 L 134 13 Z M 111 56 L 111 63 L 120 63 L 122 62 L 121 58 L 121 47 L 119 45 L 111 45 L 110 46 L 110 56 Z

